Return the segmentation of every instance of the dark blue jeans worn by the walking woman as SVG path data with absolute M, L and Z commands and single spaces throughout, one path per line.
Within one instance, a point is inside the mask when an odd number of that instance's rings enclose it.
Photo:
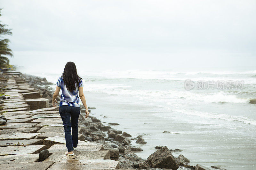
M 74 151 L 78 143 L 78 117 L 80 115 L 80 107 L 62 105 L 59 108 L 60 116 L 64 125 L 66 146 L 68 152 Z M 71 119 L 71 121 L 70 121 Z M 72 127 L 72 135 L 71 135 Z

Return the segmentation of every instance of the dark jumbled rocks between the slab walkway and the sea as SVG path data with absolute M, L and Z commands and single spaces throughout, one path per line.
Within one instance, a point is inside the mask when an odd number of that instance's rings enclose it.
M 49 99 L 49 106 L 52 107 L 52 94 L 54 85 L 46 80 L 46 78 L 39 78 L 32 75 L 22 74 L 22 78 L 26 83 L 42 94 L 43 98 Z M 57 98 L 60 101 L 60 95 Z M 95 107 L 88 107 L 89 109 L 96 109 Z M 127 132 L 113 129 L 111 126 L 105 126 L 99 119 L 89 115 L 87 119 L 84 118 L 84 106 L 81 105 L 81 116 L 79 117 L 78 126 L 82 128 L 82 134 L 85 140 L 96 142 L 104 146 L 104 150 L 110 151 L 110 159 L 119 161 L 120 168 L 128 169 L 201 169 L 207 170 L 209 168 L 197 164 L 188 165 L 190 162 L 182 154 L 177 158 L 172 155 L 172 152 L 181 152 L 179 149 L 168 149 L 166 146 L 156 146 L 158 149 L 151 154 L 148 159 L 141 159 L 134 152 L 140 152 L 140 147 L 132 146 L 131 140 L 136 140 L 136 143 L 146 144 L 141 135 L 131 138 Z M 108 123 L 109 125 L 118 125 L 118 123 Z M 212 167 L 220 169 L 219 167 Z

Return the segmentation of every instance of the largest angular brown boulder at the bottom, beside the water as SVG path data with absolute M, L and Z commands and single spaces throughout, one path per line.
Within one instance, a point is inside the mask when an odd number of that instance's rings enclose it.
M 147 160 L 153 168 L 169 168 L 173 170 L 179 168 L 175 161 L 176 159 L 166 146 L 149 155 Z

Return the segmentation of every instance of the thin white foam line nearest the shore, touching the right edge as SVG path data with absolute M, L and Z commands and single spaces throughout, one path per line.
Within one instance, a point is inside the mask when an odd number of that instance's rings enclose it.
M 189 109 L 174 109 L 173 111 L 176 111 L 181 114 L 185 115 L 193 115 L 193 116 L 199 116 L 204 118 L 211 118 L 211 119 L 220 119 L 230 122 L 242 122 L 246 124 L 252 124 L 256 126 L 256 120 L 246 118 L 244 116 L 234 116 L 234 115 L 227 115 L 227 114 L 216 114 L 216 113 L 208 113 L 208 112 L 201 112 L 201 111 L 195 111 L 195 110 L 189 110 Z

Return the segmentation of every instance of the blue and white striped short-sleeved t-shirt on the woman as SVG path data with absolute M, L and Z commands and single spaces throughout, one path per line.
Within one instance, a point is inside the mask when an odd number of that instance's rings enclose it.
M 84 87 L 83 81 L 81 78 L 78 79 L 79 87 Z M 57 86 L 61 88 L 61 97 L 60 97 L 60 106 L 68 105 L 80 107 L 80 100 L 78 98 L 78 86 L 72 92 L 68 91 L 66 85 L 64 84 L 63 77 L 61 76 L 57 83 Z

